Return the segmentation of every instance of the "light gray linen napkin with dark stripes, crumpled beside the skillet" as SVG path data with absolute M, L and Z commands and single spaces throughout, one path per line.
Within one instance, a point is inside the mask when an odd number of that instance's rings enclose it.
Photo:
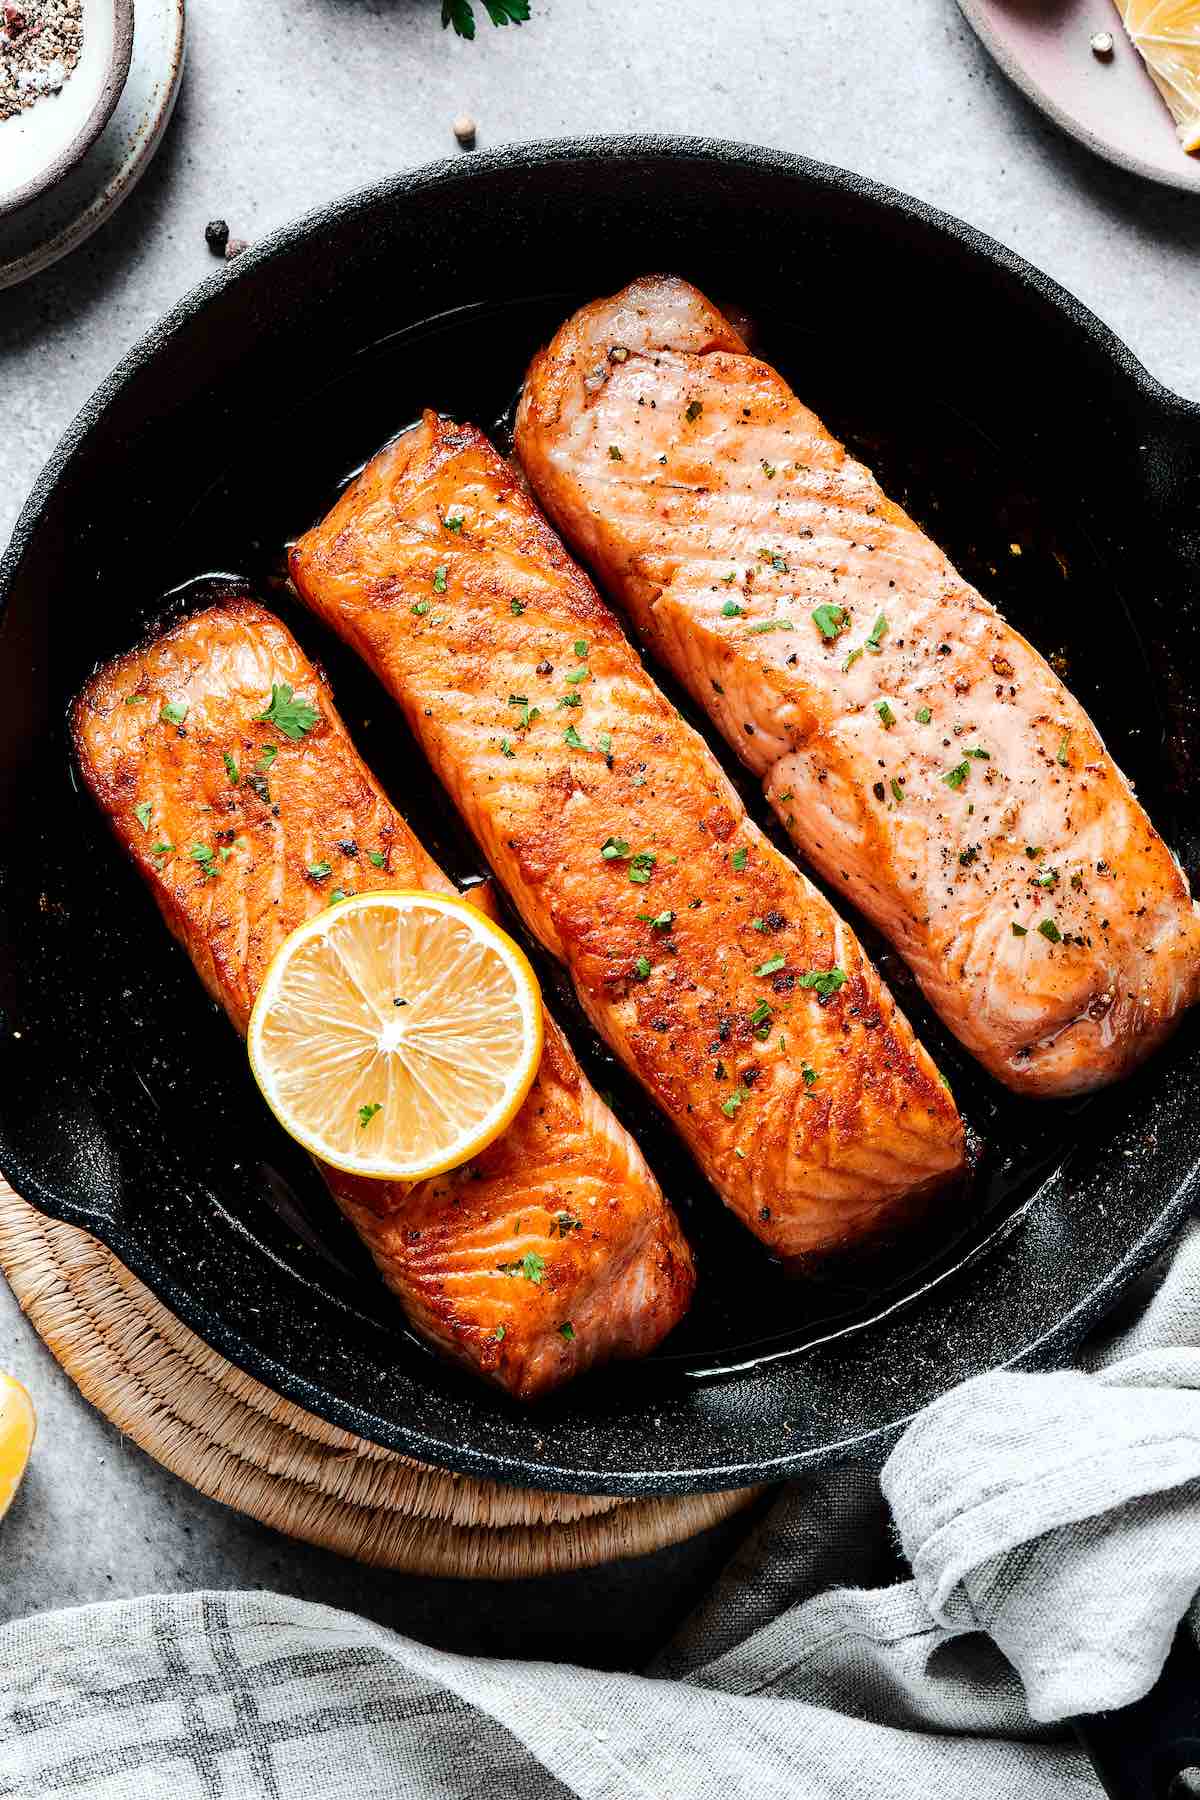
M 644 1676 L 448 1656 L 281 1595 L 0 1631 L 20 1800 L 1063 1800 L 1200 1589 L 1200 1224 L 1078 1370 L 986 1375 L 793 1483 Z

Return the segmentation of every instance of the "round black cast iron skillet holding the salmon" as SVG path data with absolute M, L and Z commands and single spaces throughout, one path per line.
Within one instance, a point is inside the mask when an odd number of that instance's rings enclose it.
M 479 875 L 394 709 L 277 587 L 282 544 L 421 405 L 502 434 L 554 324 L 660 266 L 747 310 L 765 355 L 1069 664 L 1195 877 L 1200 409 L 1011 252 L 797 157 L 533 146 L 311 214 L 137 346 L 54 454 L 0 565 L 0 1168 L 324 1418 L 471 1474 L 610 1494 L 882 1451 L 952 1382 L 1063 1357 L 1195 1199 L 1195 1021 L 1097 1100 L 1018 1102 L 864 931 L 950 1073 L 981 1163 L 928 1228 L 797 1285 L 727 1220 L 538 959 L 680 1208 L 700 1298 L 657 1357 L 518 1409 L 407 1334 L 79 794 L 63 713 L 99 657 L 207 598 L 198 578 L 250 583 L 326 661 L 426 844 Z

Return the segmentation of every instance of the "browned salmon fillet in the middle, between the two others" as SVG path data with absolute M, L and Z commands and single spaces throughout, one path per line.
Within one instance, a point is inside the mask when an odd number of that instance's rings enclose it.
M 855 936 L 747 819 L 524 484 L 426 414 L 291 553 L 531 932 L 738 1217 L 851 1242 L 963 1161 Z

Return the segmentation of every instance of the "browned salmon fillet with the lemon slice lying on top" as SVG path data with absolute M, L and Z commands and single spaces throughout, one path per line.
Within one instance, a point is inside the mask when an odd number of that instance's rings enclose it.
M 324 675 L 254 601 L 117 657 L 72 729 L 85 781 L 243 1035 L 272 956 L 333 895 L 455 891 Z M 644 1355 L 687 1310 L 678 1222 L 549 1015 L 525 1103 L 468 1166 L 423 1183 L 320 1166 L 416 1330 L 520 1399 Z

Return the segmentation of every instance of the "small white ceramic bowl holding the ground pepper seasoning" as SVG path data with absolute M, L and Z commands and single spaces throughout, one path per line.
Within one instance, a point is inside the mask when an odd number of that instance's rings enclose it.
M 86 157 L 121 99 L 131 52 L 133 0 L 83 0 L 83 49 L 61 90 L 0 119 L 0 218 Z

